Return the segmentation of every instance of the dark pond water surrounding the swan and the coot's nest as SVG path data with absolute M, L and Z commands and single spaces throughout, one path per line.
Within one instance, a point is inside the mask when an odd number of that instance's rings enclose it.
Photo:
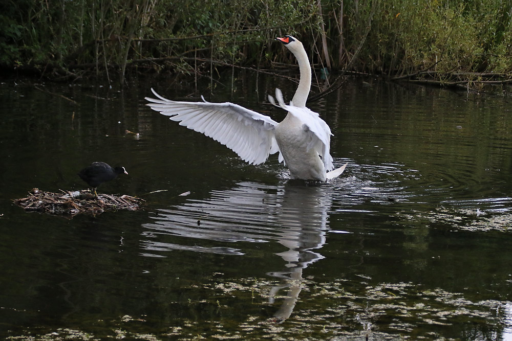
M 211 100 L 280 121 L 258 98 L 294 85 L 259 82 Z M 512 339 L 508 96 L 352 79 L 309 105 L 349 166 L 305 187 L 144 106 L 151 86 L 198 99 L 193 82 L 0 84 L 0 338 Z M 86 188 L 93 161 L 130 173 L 101 193 L 166 191 L 72 219 L 12 203 Z

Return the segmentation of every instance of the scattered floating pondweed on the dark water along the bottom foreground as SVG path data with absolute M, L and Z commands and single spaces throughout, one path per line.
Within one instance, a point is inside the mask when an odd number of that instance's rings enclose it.
M 349 280 L 304 282 L 307 294 L 295 311 L 296 319 L 289 324 L 275 324 L 256 311 L 268 305 L 268 289 L 275 282 L 264 279 L 240 279 L 233 282 L 216 281 L 203 286 L 204 299 L 188 302 L 189 308 L 202 314 L 211 311 L 208 323 L 183 319 L 169 322 L 160 333 L 152 330 L 151 318 L 119 316 L 106 323 L 110 330 L 96 333 L 59 328 L 39 335 L 11 337 L 11 340 L 96 340 L 102 337 L 140 340 L 173 339 L 501 339 L 496 330 L 475 328 L 474 325 L 512 327 L 507 302 L 486 300 L 473 302 L 462 293 L 428 289 L 412 283 L 355 284 Z M 364 288 L 357 290 L 355 288 Z M 254 311 L 238 311 L 237 301 L 251 300 Z M 251 312 L 252 311 L 252 312 Z M 236 317 L 235 317 L 236 316 Z M 422 321 L 417 324 L 415 321 Z M 99 323 L 102 325 L 102 323 Z M 425 333 L 424 325 L 430 332 Z M 178 327 L 179 326 L 179 327 Z M 106 327 L 106 326 L 104 326 Z M 146 332 L 152 330 L 151 332 Z

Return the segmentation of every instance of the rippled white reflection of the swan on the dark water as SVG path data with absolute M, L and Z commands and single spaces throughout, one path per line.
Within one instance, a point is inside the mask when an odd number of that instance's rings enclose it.
M 243 182 L 224 191 L 211 191 L 210 198 L 187 199 L 173 209 L 159 210 L 154 223 L 144 225 L 143 255 L 163 257 L 160 251 L 175 249 L 226 255 L 244 255 L 231 247 L 189 246 L 158 241 L 161 235 L 184 237 L 180 241 L 198 239 L 219 242 L 269 242 L 284 246 L 278 253 L 284 265 L 268 275 L 281 283 L 270 289 L 269 303 L 282 289 L 284 301 L 272 321 L 288 319 L 303 285 L 303 270 L 324 258 L 316 250 L 325 244 L 331 185 L 319 187 L 280 185 L 266 186 Z M 153 237 L 153 238 L 151 238 Z M 157 238 L 155 238 L 157 237 Z M 205 242 L 205 244 L 208 244 Z M 238 243 L 237 245 L 240 245 Z M 156 253 L 155 253 L 156 252 Z

